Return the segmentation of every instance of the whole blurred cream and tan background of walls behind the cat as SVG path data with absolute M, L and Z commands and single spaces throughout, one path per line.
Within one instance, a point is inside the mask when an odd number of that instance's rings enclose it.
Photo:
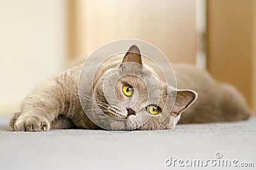
M 207 69 L 256 112 L 256 1 L 0 0 L 0 24 L 0 117 L 74 60 L 127 38 Z

